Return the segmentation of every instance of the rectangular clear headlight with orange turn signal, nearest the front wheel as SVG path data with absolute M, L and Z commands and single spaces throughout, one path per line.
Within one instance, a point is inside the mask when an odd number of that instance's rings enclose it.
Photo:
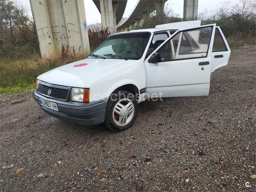
M 70 100 L 88 103 L 89 102 L 89 94 L 90 94 L 90 89 L 88 89 L 88 88 L 86 88 L 86 89 L 72 88 Z

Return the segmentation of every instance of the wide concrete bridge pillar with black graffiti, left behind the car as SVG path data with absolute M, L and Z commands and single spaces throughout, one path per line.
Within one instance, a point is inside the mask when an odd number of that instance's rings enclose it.
M 83 1 L 29 0 L 42 59 L 90 52 Z

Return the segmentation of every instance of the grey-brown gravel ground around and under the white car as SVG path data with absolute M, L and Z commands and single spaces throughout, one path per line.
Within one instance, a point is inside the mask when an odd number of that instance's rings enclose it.
M 2 94 L 1 191 L 256 191 L 255 80 L 255 46 L 232 51 L 208 97 L 140 103 L 124 132 Z

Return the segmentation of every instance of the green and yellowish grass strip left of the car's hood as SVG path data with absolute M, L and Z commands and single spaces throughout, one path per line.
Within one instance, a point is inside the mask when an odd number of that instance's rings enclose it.
M 32 55 L 30 58 L 21 59 L 1 58 L 0 92 L 12 92 L 13 90 L 31 88 L 40 74 L 84 58 L 81 55 L 68 56 L 64 60 L 61 58 L 51 58 L 43 61 L 39 55 Z

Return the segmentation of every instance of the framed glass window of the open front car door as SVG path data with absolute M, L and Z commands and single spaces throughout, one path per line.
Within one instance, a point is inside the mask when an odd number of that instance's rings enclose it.
M 211 27 L 180 31 L 157 52 L 162 61 L 206 57 L 211 33 Z

